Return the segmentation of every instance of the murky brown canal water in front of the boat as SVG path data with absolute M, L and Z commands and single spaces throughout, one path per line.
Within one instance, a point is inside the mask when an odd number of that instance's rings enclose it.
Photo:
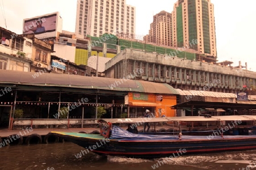
M 71 142 L 0 148 L 0 169 L 254 169 L 256 150 L 185 155 L 176 158 L 133 159 L 119 156 L 102 157 L 83 150 Z M 160 163 L 160 165 L 159 165 Z M 155 165 L 155 166 L 154 166 Z M 157 167 L 158 165 L 158 167 Z M 154 168 L 152 168 L 154 167 Z M 256 169 L 256 167 L 255 167 Z

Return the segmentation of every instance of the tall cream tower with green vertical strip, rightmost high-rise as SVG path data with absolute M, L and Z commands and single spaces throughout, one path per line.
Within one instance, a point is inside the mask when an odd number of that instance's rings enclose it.
M 210 0 L 177 1 L 172 11 L 172 37 L 175 46 L 217 57 L 214 6 Z

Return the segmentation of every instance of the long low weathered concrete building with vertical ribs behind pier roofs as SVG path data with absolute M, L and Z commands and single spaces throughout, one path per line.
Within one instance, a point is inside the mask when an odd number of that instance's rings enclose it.
M 227 65 L 125 49 L 105 65 L 105 77 L 168 83 L 183 90 L 255 91 L 256 73 Z

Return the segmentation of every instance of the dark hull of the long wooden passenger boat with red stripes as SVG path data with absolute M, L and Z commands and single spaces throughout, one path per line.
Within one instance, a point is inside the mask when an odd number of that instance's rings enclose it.
M 203 140 L 117 140 L 102 138 L 81 138 L 53 133 L 98 155 L 127 156 L 130 158 L 161 158 L 204 152 L 221 152 L 256 149 L 256 137 L 203 139 Z M 95 134 L 96 135 L 96 134 Z M 102 140 L 103 139 L 103 140 Z M 105 141 L 105 142 L 104 142 Z

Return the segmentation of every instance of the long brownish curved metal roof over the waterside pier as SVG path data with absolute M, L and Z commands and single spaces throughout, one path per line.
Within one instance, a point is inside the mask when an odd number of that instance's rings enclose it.
M 178 94 L 173 87 L 166 83 L 69 74 L 31 73 L 11 70 L 0 70 L 0 84 L 134 91 L 153 94 Z

